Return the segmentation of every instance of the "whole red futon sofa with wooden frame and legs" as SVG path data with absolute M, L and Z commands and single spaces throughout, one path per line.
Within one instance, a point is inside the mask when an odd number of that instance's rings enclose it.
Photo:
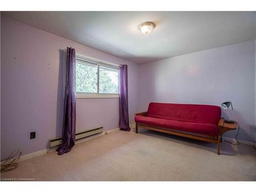
M 202 104 L 150 103 L 147 112 L 135 114 L 138 127 L 217 143 L 220 154 L 219 106 Z

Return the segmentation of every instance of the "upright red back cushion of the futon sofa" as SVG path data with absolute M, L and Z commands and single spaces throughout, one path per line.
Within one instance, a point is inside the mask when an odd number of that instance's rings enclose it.
M 215 105 L 152 102 L 148 105 L 147 116 L 217 125 L 221 118 L 221 109 Z

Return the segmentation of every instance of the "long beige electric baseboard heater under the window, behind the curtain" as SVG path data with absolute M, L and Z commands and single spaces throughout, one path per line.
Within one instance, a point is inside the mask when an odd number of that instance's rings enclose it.
M 83 139 L 92 135 L 96 135 L 103 132 L 103 126 L 94 128 L 92 130 L 87 130 L 83 132 L 76 133 L 75 140 Z M 61 137 L 50 139 L 50 147 L 58 146 L 62 142 Z

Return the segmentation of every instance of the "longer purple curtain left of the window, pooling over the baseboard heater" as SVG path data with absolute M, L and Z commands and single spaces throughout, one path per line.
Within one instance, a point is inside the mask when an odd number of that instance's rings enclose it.
M 67 72 L 65 101 L 62 124 L 62 144 L 57 148 L 58 155 L 68 153 L 75 145 L 76 133 L 76 93 L 75 93 L 75 49 L 67 48 Z

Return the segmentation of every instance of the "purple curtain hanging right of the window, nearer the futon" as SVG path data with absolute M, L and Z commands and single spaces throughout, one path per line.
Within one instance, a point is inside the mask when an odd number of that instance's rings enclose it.
M 119 89 L 119 126 L 120 130 L 130 132 L 128 113 L 128 81 L 127 65 L 119 67 L 120 89 Z

